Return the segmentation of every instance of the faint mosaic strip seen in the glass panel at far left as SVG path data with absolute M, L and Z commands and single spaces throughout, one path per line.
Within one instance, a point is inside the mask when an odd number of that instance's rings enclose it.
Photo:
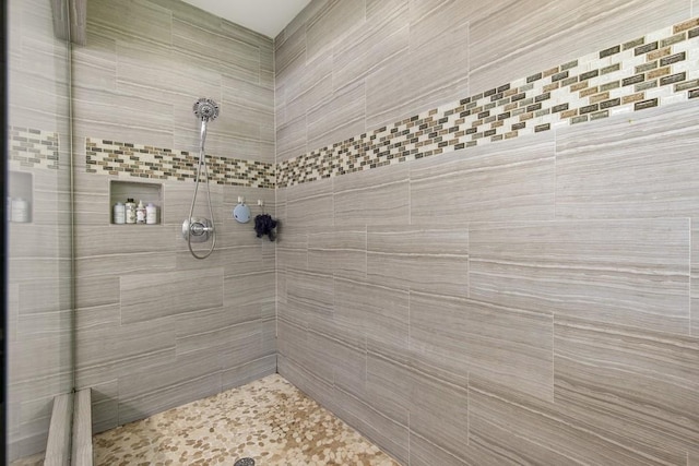
M 32 128 L 9 127 L 10 164 L 25 168 L 58 170 L 58 133 Z

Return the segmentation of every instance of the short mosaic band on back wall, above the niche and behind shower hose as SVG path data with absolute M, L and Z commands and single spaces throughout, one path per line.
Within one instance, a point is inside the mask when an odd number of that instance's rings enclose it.
M 116 141 L 85 140 L 87 172 L 159 180 L 194 180 L 199 154 Z M 206 155 L 216 184 L 274 188 L 274 164 Z

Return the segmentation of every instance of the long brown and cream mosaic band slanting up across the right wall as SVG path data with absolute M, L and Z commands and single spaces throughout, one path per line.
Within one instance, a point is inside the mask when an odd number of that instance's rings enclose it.
M 277 164 L 277 187 L 699 98 L 699 17 Z

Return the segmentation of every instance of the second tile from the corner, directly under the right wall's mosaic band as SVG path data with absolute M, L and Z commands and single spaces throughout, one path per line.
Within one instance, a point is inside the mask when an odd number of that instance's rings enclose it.
M 408 166 L 358 171 L 333 180 L 334 219 L 339 227 L 407 225 Z

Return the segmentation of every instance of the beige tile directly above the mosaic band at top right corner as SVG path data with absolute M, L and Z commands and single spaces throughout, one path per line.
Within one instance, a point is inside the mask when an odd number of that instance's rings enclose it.
M 470 92 L 487 91 L 590 51 L 641 37 L 685 20 L 690 14 L 688 10 L 684 0 L 643 4 L 625 1 L 613 8 L 601 0 L 584 4 L 572 0 L 528 0 L 474 8 L 470 28 Z M 503 24 L 508 27 L 501 27 Z M 542 27 L 532 27 L 533 24 Z M 532 63 L 537 63 L 537 68 L 532 69 Z

